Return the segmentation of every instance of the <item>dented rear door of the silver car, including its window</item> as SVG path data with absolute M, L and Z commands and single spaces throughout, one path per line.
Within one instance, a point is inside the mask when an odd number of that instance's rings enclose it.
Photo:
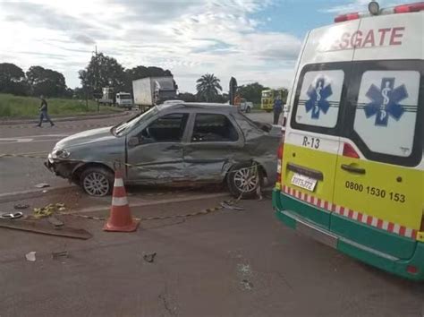
M 242 132 L 231 116 L 196 113 L 191 119 L 189 142 L 184 145 L 184 162 L 192 181 L 222 182 L 225 164 L 243 147 Z

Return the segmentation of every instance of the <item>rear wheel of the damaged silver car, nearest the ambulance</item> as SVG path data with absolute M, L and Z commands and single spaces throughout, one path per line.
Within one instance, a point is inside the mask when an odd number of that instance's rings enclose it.
M 251 198 L 257 194 L 258 186 L 264 184 L 264 176 L 260 167 L 257 166 L 257 179 L 254 177 L 254 168 L 256 163 L 235 164 L 230 169 L 226 177 L 228 190 L 234 197 Z

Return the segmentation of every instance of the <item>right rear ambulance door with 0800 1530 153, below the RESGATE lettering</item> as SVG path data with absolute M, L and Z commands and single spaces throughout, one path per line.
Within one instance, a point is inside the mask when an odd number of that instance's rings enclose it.
M 423 217 L 423 63 L 355 62 L 355 70 L 331 230 L 408 259 Z

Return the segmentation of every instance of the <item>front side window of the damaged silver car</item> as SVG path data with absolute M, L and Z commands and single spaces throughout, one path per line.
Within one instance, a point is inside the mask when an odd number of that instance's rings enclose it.
M 188 114 L 162 116 L 141 132 L 141 136 L 150 141 L 182 141 Z

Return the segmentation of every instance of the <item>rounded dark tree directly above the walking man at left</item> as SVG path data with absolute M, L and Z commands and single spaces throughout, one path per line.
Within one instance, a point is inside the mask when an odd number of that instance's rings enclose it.
M 66 81 L 62 73 L 41 66 L 31 66 L 27 72 L 33 96 L 63 97 L 66 94 Z

